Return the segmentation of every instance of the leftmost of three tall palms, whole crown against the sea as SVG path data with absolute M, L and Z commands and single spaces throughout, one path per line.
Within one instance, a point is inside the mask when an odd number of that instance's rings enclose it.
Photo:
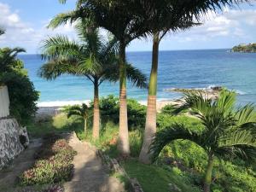
M 119 79 L 119 63 L 116 58 L 114 39 L 104 43 L 98 29 L 90 20 L 82 20 L 76 25 L 79 43 L 65 36 L 56 36 L 44 41 L 43 57 L 49 62 L 40 69 L 40 76 L 55 79 L 63 73 L 84 76 L 94 84 L 93 137 L 99 137 L 100 110 L 99 86 L 103 81 L 116 82 Z M 147 78 L 136 67 L 125 63 L 127 78 L 141 88 L 147 87 Z

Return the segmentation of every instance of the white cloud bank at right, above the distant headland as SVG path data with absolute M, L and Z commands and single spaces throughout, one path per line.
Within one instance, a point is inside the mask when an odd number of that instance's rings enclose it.
M 185 32 L 178 32 L 174 38 L 179 42 L 206 41 L 212 38 L 245 38 L 247 28 L 253 27 L 256 31 L 256 10 L 225 9 L 223 14 L 208 13 L 201 26 L 195 26 Z M 186 37 L 186 38 L 184 38 Z

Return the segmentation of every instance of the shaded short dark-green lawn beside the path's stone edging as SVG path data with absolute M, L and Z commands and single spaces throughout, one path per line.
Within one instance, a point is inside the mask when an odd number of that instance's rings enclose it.
M 137 160 L 128 160 L 123 166 L 130 177 L 136 177 L 145 192 L 170 191 L 168 183 L 177 185 L 182 191 L 201 191 L 177 172 L 167 171 L 160 166 L 144 165 Z

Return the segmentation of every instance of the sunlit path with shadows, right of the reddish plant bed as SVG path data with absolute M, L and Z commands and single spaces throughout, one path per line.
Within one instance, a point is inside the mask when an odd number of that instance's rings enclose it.
M 121 192 L 123 184 L 110 177 L 108 168 L 96 155 L 96 149 L 88 143 L 81 143 L 72 135 L 69 144 L 78 154 L 74 157 L 74 175 L 71 182 L 64 183 L 65 192 Z

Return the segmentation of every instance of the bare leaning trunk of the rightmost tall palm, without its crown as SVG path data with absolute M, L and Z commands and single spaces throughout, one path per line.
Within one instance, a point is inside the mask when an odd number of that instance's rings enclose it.
M 153 40 L 152 67 L 148 86 L 148 108 L 146 126 L 143 137 L 143 148 L 139 156 L 139 160 L 145 164 L 151 163 L 150 154 L 148 154 L 148 149 L 150 147 L 150 144 L 152 143 L 154 134 L 156 132 L 156 91 L 159 43 L 159 32 L 155 32 Z

